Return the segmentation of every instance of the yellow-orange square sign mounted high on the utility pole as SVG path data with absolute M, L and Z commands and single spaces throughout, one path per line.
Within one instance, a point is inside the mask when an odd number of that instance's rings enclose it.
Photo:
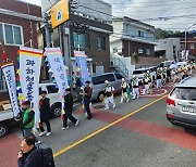
M 52 7 L 50 9 L 50 15 L 52 28 L 56 28 L 60 24 L 66 22 L 70 18 L 69 0 L 61 0 Z

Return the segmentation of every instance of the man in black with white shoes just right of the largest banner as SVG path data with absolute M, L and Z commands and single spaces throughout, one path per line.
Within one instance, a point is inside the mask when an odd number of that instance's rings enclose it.
M 48 99 L 46 97 L 47 92 L 46 91 L 41 91 L 40 95 L 41 99 L 39 101 L 39 111 L 40 111 L 40 124 L 39 124 L 39 129 L 40 129 L 40 133 L 39 137 L 42 137 L 44 134 L 46 134 L 47 137 L 51 134 L 51 127 L 50 127 L 50 123 L 49 123 L 49 118 L 50 118 L 50 99 Z M 47 126 L 47 132 L 44 129 L 42 123 L 46 124 Z

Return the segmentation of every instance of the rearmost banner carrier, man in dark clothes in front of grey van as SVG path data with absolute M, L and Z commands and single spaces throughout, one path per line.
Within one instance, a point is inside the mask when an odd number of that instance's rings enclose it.
M 91 119 L 93 115 L 89 108 L 89 104 L 91 101 L 91 93 L 93 93 L 93 88 L 89 86 L 89 81 L 86 81 L 86 87 L 84 88 L 84 105 L 85 105 L 85 110 L 88 114 L 87 119 Z

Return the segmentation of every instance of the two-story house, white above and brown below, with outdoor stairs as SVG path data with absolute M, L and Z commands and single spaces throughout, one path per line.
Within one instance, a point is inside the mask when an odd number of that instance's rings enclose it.
M 112 25 L 113 35 L 110 36 L 111 64 L 113 67 L 122 66 L 121 72 L 126 67 L 125 70 L 128 74 L 125 76 L 131 77 L 133 69 L 137 67 L 156 65 L 162 61 L 155 56 L 157 43 L 154 26 L 126 16 L 113 17 Z

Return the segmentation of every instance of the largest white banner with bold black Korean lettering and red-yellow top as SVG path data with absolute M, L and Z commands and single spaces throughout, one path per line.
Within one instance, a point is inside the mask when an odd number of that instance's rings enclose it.
M 42 59 L 42 50 L 21 47 L 20 51 L 20 81 L 25 100 L 30 101 L 35 112 L 35 127 L 38 126 L 40 112 L 39 102 L 39 76 Z

